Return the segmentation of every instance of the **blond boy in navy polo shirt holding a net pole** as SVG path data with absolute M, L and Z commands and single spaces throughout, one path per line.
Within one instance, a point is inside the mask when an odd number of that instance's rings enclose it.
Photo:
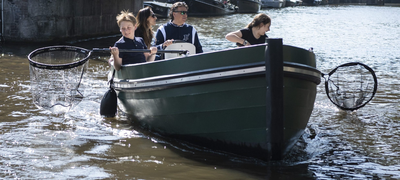
M 127 11 L 121 11 L 121 14 L 117 16 L 117 23 L 122 33 L 122 38 L 118 40 L 114 47 L 110 47 L 111 54 L 114 59 L 114 69 L 119 71 L 121 65 L 146 63 L 154 61 L 156 57 L 157 48 L 150 47 L 150 53 L 133 53 L 133 52 L 119 52 L 119 49 L 144 49 L 147 50 L 147 46 L 144 40 L 140 37 L 135 37 L 136 29 L 136 18 L 135 16 Z

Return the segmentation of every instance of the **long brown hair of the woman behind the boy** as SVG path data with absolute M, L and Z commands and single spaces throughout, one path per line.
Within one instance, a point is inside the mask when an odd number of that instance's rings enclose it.
M 138 15 L 136 16 L 136 20 L 138 21 L 138 29 L 143 32 L 143 40 L 147 47 L 151 47 L 151 41 L 154 37 L 154 32 L 151 28 L 151 25 L 147 21 L 147 18 L 151 16 L 150 10 L 151 8 L 146 6 L 146 8 L 139 10 Z

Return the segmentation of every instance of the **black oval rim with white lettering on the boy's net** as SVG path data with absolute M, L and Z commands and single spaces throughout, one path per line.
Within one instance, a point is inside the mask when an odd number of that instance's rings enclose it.
M 42 54 L 42 53 L 47 53 L 50 51 L 73 51 L 73 52 L 77 52 L 77 53 L 82 53 L 85 54 L 86 57 L 80 61 L 77 61 L 75 63 L 70 63 L 70 64 L 64 64 L 64 65 L 46 65 L 46 64 L 42 64 L 42 63 L 38 63 L 32 60 L 33 57 L 35 57 L 36 55 Z M 44 47 L 41 49 L 36 49 L 35 51 L 33 51 L 32 53 L 30 53 L 28 55 L 28 59 L 29 59 L 29 64 L 32 67 L 37 67 L 37 68 L 41 68 L 41 69 L 57 69 L 57 70 L 63 70 L 63 69 L 70 69 L 70 68 L 74 68 L 74 67 L 78 67 L 83 65 L 84 63 L 86 63 L 86 61 L 88 61 L 90 55 L 92 54 L 92 51 L 89 51 L 87 49 L 82 49 L 79 47 L 72 47 L 72 46 L 52 46 L 52 47 Z

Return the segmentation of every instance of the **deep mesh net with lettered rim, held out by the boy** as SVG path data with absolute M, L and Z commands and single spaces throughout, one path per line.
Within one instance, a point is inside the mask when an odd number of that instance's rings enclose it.
M 37 49 L 28 56 L 32 99 L 39 108 L 68 112 L 83 98 L 91 51 L 58 46 Z

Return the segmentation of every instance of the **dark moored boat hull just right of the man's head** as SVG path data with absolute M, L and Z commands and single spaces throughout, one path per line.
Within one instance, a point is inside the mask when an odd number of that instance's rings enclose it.
M 236 10 L 229 4 L 223 4 L 216 0 L 184 0 L 188 5 L 190 16 L 224 15 L 233 14 Z

